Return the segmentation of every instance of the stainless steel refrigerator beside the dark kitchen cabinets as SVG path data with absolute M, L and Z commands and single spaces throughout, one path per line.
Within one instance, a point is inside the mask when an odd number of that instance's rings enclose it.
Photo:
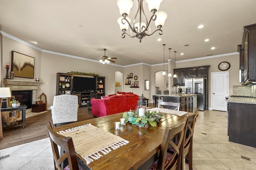
M 197 94 L 198 110 L 204 111 L 206 109 L 206 78 L 185 79 L 185 93 Z

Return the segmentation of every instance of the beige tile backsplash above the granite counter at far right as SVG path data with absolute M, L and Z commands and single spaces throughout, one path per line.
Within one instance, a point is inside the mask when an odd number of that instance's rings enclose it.
M 233 94 L 236 96 L 256 96 L 256 85 L 253 86 L 233 86 Z

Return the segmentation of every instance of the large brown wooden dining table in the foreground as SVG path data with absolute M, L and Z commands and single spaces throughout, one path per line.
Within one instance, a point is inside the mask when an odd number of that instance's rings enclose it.
M 144 126 L 132 125 L 132 123 L 127 122 L 126 125 L 121 126 L 120 130 L 115 130 L 114 122 L 120 121 L 120 118 L 122 118 L 122 113 L 116 113 L 104 117 L 97 117 L 54 127 L 54 131 L 60 132 L 73 127 L 90 124 L 128 141 L 126 145 L 114 150 L 112 149 L 111 152 L 108 152 L 105 155 L 103 154 L 102 157 L 93 160 L 89 164 L 86 164 L 86 161 L 82 156 L 76 152 L 78 164 L 84 167 L 84 169 L 147 169 L 158 158 L 160 145 L 162 143 L 166 127 L 178 125 L 184 120 L 185 115 L 188 113 L 184 111 L 171 111 L 175 114 L 164 113 L 168 111 L 163 112 L 160 110 L 160 113 L 163 116 L 162 120 L 157 123 L 156 127 L 152 127 L 150 124 Z M 93 145 L 100 145 L 100 143 L 93 143 Z

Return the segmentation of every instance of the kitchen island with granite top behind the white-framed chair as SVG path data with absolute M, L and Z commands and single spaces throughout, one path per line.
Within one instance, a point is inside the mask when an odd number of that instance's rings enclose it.
M 164 102 L 180 103 L 180 111 L 193 112 L 193 102 L 196 104 L 196 94 L 153 94 L 154 107 L 156 107 L 157 99 L 162 98 Z M 196 106 L 196 105 L 194 105 Z

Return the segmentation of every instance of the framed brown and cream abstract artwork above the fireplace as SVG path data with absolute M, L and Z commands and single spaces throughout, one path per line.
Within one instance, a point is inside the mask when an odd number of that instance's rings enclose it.
M 11 71 L 16 77 L 34 78 L 35 58 L 12 51 Z

